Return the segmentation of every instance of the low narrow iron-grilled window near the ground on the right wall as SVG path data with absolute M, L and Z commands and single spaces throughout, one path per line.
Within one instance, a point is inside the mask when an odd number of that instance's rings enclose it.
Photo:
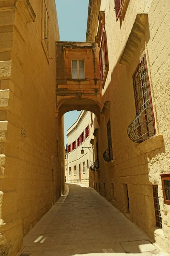
M 155 206 L 156 227 L 162 228 L 162 218 L 158 197 L 158 186 L 153 186 L 153 199 Z

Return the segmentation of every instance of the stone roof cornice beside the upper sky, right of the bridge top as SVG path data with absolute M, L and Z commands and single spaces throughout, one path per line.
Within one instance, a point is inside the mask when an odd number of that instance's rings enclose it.
M 86 41 L 94 41 L 97 26 L 98 26 L 98 15 L 100 10 L 101 0 L 89 0 L 88 4 L 88 22 L 87 22 L 87 32 Z

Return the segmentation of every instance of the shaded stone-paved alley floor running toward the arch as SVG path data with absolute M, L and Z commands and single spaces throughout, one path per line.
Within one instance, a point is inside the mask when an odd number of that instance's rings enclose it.
M 23 239 L 31 256 L 167 256 L 118 209 L 85 185 L 65 194 Z

